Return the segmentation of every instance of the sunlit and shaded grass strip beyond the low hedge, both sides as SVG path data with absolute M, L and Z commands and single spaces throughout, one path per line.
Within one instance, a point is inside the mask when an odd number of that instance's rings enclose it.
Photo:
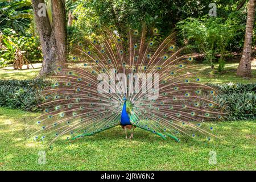
M 254 61 L 255 62 L 255 61 Z M 1 68 L 0 69 L 0 79 L 31 79 L 38 76 L 40 71 L 41 64 L 33 64 L 35 69 L 24 69 L 24 70 L 13 70 L 12 67 L 9 68 Z M 215 65 L 218 67 L 218 64 Z M 227 83 L 227 82 L 242 82 L 242 83 L 251 83 L 256 82 L 256 63 L 252 64 L 251 73 L 252 76 L 250 78 L 242 78 L 236 76 L 236 69 L 238 67 L 238 63 L 228 63 L 225 65 L 225 70 L 222 74 L 214 73 L 212 75 L 212 70 L 208 65 L 197 64 L 197 67 L 191 69 L 191 71 L 200 71 L 198 77 L 201 78 L 202 82 L 211 82 L 211 83 Z

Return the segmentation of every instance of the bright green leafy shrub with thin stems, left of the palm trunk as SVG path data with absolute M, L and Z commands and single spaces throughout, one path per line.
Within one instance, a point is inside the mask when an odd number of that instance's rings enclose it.
M 214 68 L 216 55 L 218 71 L 222 72 L 225 65 L 226 53 L 234 49 L 241 49 L 241 35 L 244 34 L 245 20 L 236 17 L 238 13 L 232 13 L 228 19 L 203 16 L 203 18 L 187 18 L 177 23 L 181 39 L 189 43 L 189 46 L 200 53 L 205 54 L 205 63 Z M 242 15 L 241 15 L 242 16 Z M 230 49 L 232 44 L 233 49 Z

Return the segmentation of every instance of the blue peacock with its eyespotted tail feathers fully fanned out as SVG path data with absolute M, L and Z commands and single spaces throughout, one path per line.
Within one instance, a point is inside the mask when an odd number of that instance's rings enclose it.
M 130 140 L 135 128 L 177 142 L 216 137 L 213 127 L 202 125 L 222 119 L 218 92 L 201 83 L 193 56 L 187 46 L 176 46 L 174 33 L 101 27 L 73 41 L 68 57 L 48 76 L 34 140 L 72 140 L 119 125 Z

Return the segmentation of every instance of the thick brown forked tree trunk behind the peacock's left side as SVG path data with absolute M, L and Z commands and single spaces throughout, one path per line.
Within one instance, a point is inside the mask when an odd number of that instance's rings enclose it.
M 44 0 L 32 0 L 36 27 L 43 52 L 43 64 L 39 76 L 47 75 L 55 70 L 57 62 L 67 61 L 67 24 L 65 0 L 50 0 L 51 14 L 40 16 Z M 39 5 L 40 4 L 40 5 Z M 49 11 L 49 10 L 48 10 Z

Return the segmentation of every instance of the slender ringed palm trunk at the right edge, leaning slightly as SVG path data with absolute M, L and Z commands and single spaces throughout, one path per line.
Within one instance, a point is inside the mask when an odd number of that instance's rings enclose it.
M 243 53 L 237 68 L 237 76 L 251 76 L 251 44 L 253 39 L 253 25 L 255 16 L 255 0 L 249 0 L 247 7 L 247 21 L 245 31 L 245 43 L 243 44 Z

